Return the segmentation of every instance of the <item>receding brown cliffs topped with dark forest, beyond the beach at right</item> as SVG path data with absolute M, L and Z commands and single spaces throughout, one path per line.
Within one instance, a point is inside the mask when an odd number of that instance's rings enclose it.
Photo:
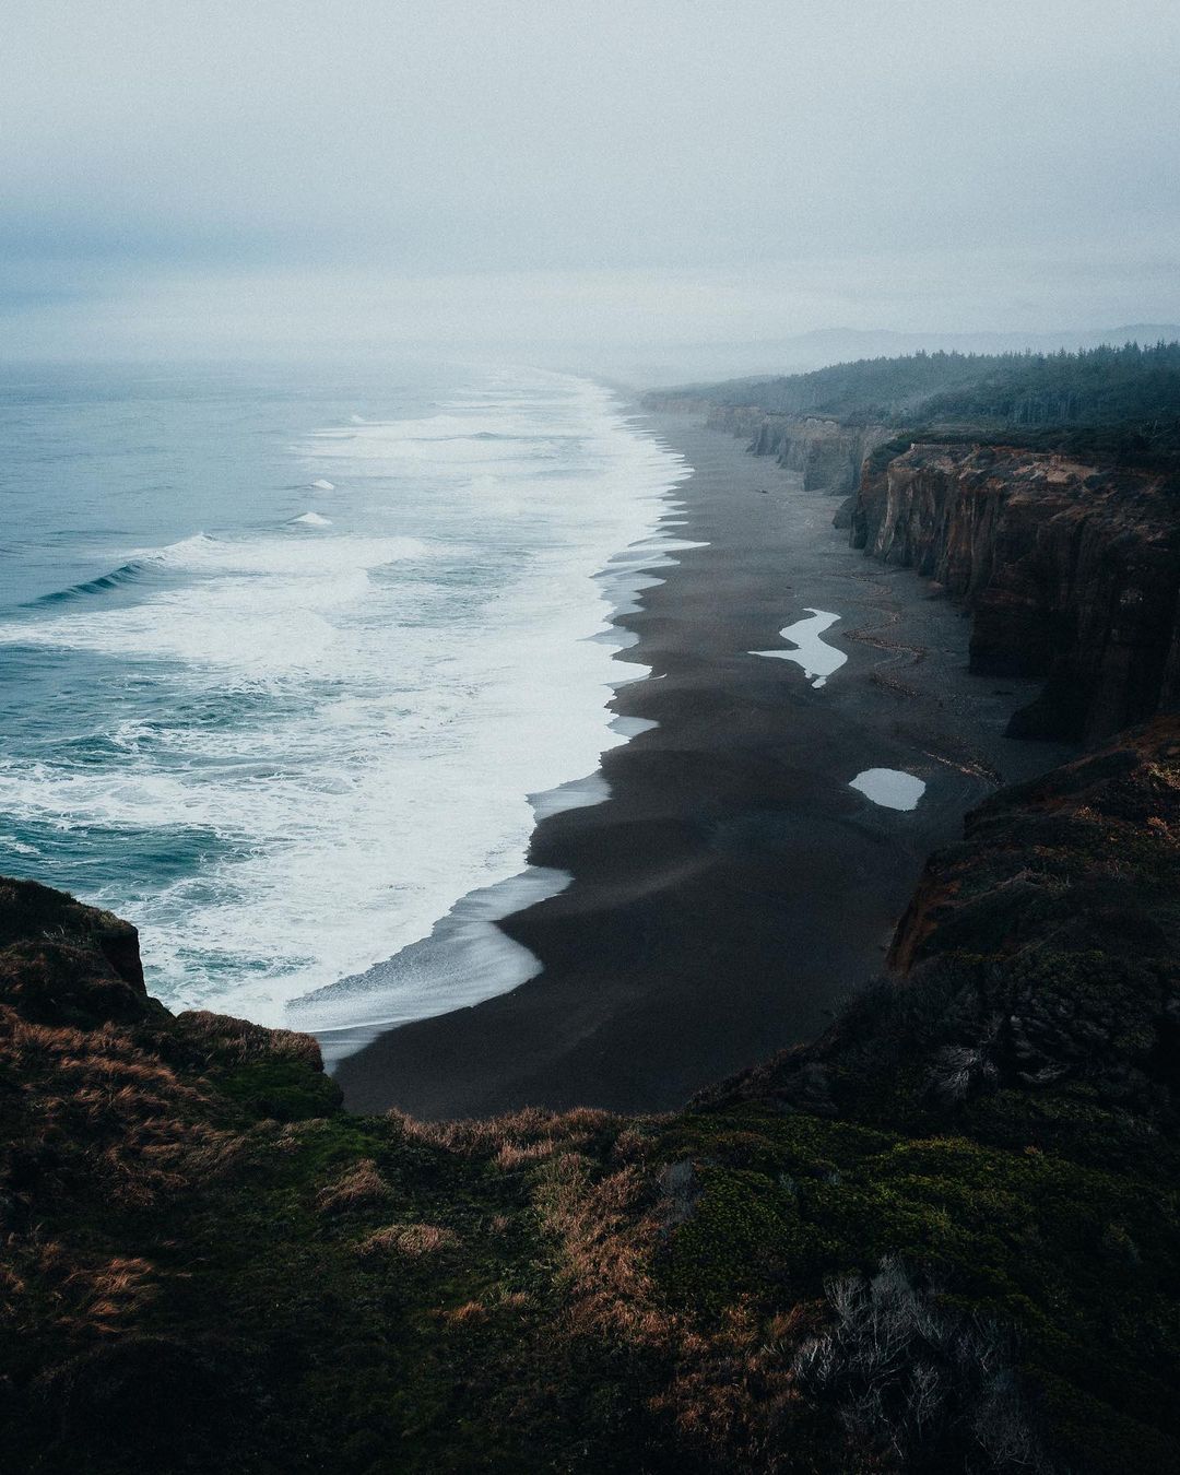
M 1044 681 L 1009 735 L 1093 743 L 1180 702 L 1180 344 L 913 354 L 646 397 L 847 493 L 866 555 L 971 612 L 971 670 Z

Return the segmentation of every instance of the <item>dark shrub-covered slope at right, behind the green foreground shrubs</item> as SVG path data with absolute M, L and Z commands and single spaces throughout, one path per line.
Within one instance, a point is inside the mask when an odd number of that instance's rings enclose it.
M 892 975 L 709 1099 L 957 1124 L 1171 1173 L 1177 894 L 1180 718 L 1165 717 L 968 814 L 898 923 Z

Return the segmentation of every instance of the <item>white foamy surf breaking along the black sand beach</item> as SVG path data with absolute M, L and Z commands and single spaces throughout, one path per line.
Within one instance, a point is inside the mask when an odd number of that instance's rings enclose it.
M 348 485 L 347 531 L 304 513 L 316 537 L 196 534 L 134 552 L 152 577 L 118 597 L 0 625 L 0 642 L 94 652 L 153 693 L 150 718 L 111 708 L 117 761 L 0 763 L 0 808 L 59 833 L 209 836 L 173 879 L 97 888 L 145 929 L 170 1003 L 279 1022 L 350 978 L 329 1010 L 344 1025 L 454 1007 L 535 968 L 500 947 L 496 891 L 460 910 L 463 969 L 451 928 L 355 987 L 469 892 L 521 876 L 538 816 L 603 796 L 586 776 L 634 730 L 606 702 L 646 674 L 603 628 L 640 571 L 692 546 L 655 537 L 683 462 L 605 389 L 507 382 L 468 392 L 469 410 L 310 434 L 302 485 Z

